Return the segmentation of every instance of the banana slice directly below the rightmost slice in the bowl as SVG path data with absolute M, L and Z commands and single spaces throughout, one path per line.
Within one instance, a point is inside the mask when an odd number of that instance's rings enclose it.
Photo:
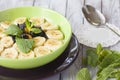
M 62 41 L 55 39 L 48 39 L 44 44 L 44 46 L 46 46 L 48 49 L 52 51 L 58 49 L 61 45 L 62 45 Z

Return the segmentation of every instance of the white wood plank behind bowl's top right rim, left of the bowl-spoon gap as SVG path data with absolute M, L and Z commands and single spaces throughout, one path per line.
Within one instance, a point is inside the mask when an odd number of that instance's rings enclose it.
M 66 11 L 66 0 L 36 0 L 35 6 L 52 9 L 64 16 Z

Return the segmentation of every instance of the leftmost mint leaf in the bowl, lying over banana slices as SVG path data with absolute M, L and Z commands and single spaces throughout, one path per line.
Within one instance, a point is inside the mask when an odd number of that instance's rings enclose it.
M 4 33 L 8 35 L 19 36 L 20 34 L 23 33 L 23 31 L 17 25 L 12 24 L 8 27 L 7 30 L 5 30 Z

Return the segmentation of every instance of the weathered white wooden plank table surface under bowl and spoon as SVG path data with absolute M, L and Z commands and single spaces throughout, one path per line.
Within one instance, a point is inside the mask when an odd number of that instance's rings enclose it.
M 77 34 L 79 32 L 77 28 L 81 24 L 88 24 L 81 11 L 84 4 L 93 5 L 105 15 L 107 22 L 120 27 L 120 0 L 0 0 L 0 10 L 20 6 L 49 8 L 65 16 L 72 26 L 73 33 Z M 82 67 L 82 57 L 87 48 L 89 47 L 80 44 L 80 53 L 75 62 L 67 70 L 44 80 L 75 80 L 76 73 Z M 120 43 L 109 48 L 120 51 Z

